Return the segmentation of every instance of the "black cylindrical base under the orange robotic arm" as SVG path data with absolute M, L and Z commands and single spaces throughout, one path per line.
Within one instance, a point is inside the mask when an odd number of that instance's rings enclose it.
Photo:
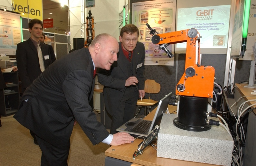
M 205 112 L 207 112 L 208 98 L 180 96 L 178 118 L 173 124 L 183 130 L 206 131 L 211 125 L 205 124 Z

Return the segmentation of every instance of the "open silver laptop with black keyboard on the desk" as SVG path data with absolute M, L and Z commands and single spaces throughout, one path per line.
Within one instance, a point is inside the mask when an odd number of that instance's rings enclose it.
M 129 133 L 135 138 L 138 136 L 142 136 L 144 138 L 147 137 L 156 125 L 160 126 L 163 113 L 165 113 L 165 111 L 167 110 L 171 97 L 172 92 L 168 95 L 165 95 L 165 97 L 159 101 L 153 121 L 132 118 L 124 125 L 117 128 L 116 131 Z

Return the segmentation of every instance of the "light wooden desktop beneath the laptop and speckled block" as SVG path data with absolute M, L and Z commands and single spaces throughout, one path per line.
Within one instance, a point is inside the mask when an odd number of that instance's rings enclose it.
M 177 110 L 175 106 L 168 107 L 169 112 Z M 144 119 L 152 120 L 156 113 L 156 108 L 150 112 Z M 172 122 L 170 122 L 172 123 Z M 156 157 L 156 150 L 152 146 L 148 146 L 143 150 L 142 155 L 138 155 L 135 160 L 133 160 L 132 155 L 137 150 L 138 145 L 142 140 L 136 139 L 133 143 L 123 144 L 119 146 L 111 146 L 105 151 L 105 155 L 108 157 L 113 157 L 119 160 L 127 161 L 139 164 L 141 166 L 216 166 L 213 164 L 206 164 L 200 162 L 189 162 L 183 160 L 175 160 L 169 158 Z

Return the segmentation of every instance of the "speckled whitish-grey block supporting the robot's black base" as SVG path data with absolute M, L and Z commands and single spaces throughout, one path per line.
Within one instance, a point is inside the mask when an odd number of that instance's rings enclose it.
M 230 166 L 234 141 L 222 126 L 195 132 L 173 125 L 175 114 L 164 114 L 157 139 L 157 157 Z M 217 119 L 216 119 L 217 120 Z

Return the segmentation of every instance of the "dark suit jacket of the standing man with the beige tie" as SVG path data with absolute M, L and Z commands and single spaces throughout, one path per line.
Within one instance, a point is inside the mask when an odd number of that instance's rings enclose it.
M 52 57 L 49 47 L 40 43 L 45 69 L 52 64 Z M 49 59 L 45 59 L 45 55 L 49 55 Z M 42 72 L 40 70 L 37 49 L 29 38 L 17 44 L 16 50 L 17 67 L 22 83 L 22 88 L 27 88 Z

